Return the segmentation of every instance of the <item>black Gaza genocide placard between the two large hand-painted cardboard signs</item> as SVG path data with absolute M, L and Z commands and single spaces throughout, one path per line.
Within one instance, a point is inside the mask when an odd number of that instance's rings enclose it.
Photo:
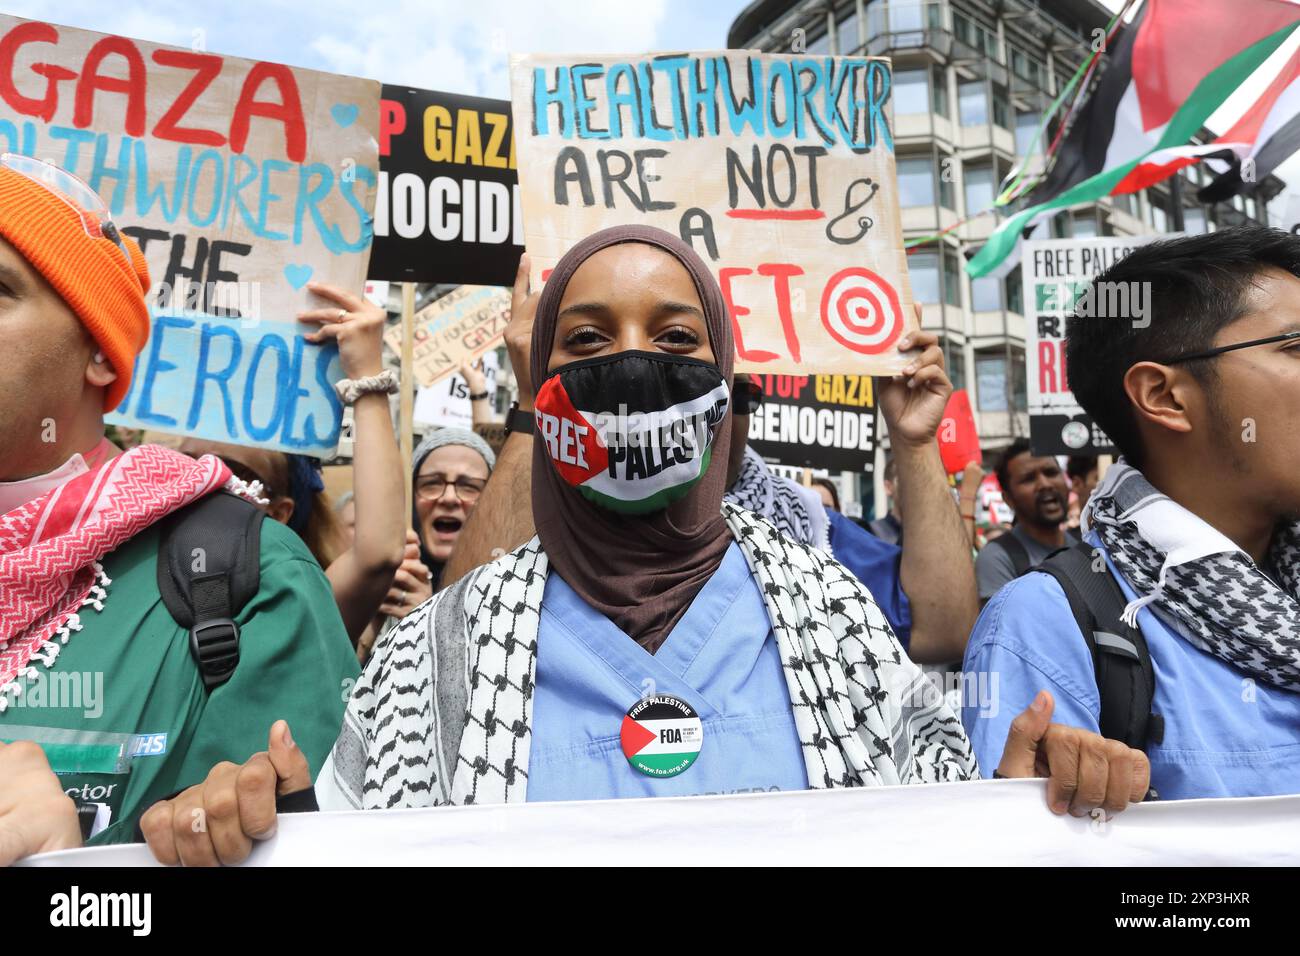
M 523 251 L 510 103 L 385 86 L 370 278 L 512 285 Z

